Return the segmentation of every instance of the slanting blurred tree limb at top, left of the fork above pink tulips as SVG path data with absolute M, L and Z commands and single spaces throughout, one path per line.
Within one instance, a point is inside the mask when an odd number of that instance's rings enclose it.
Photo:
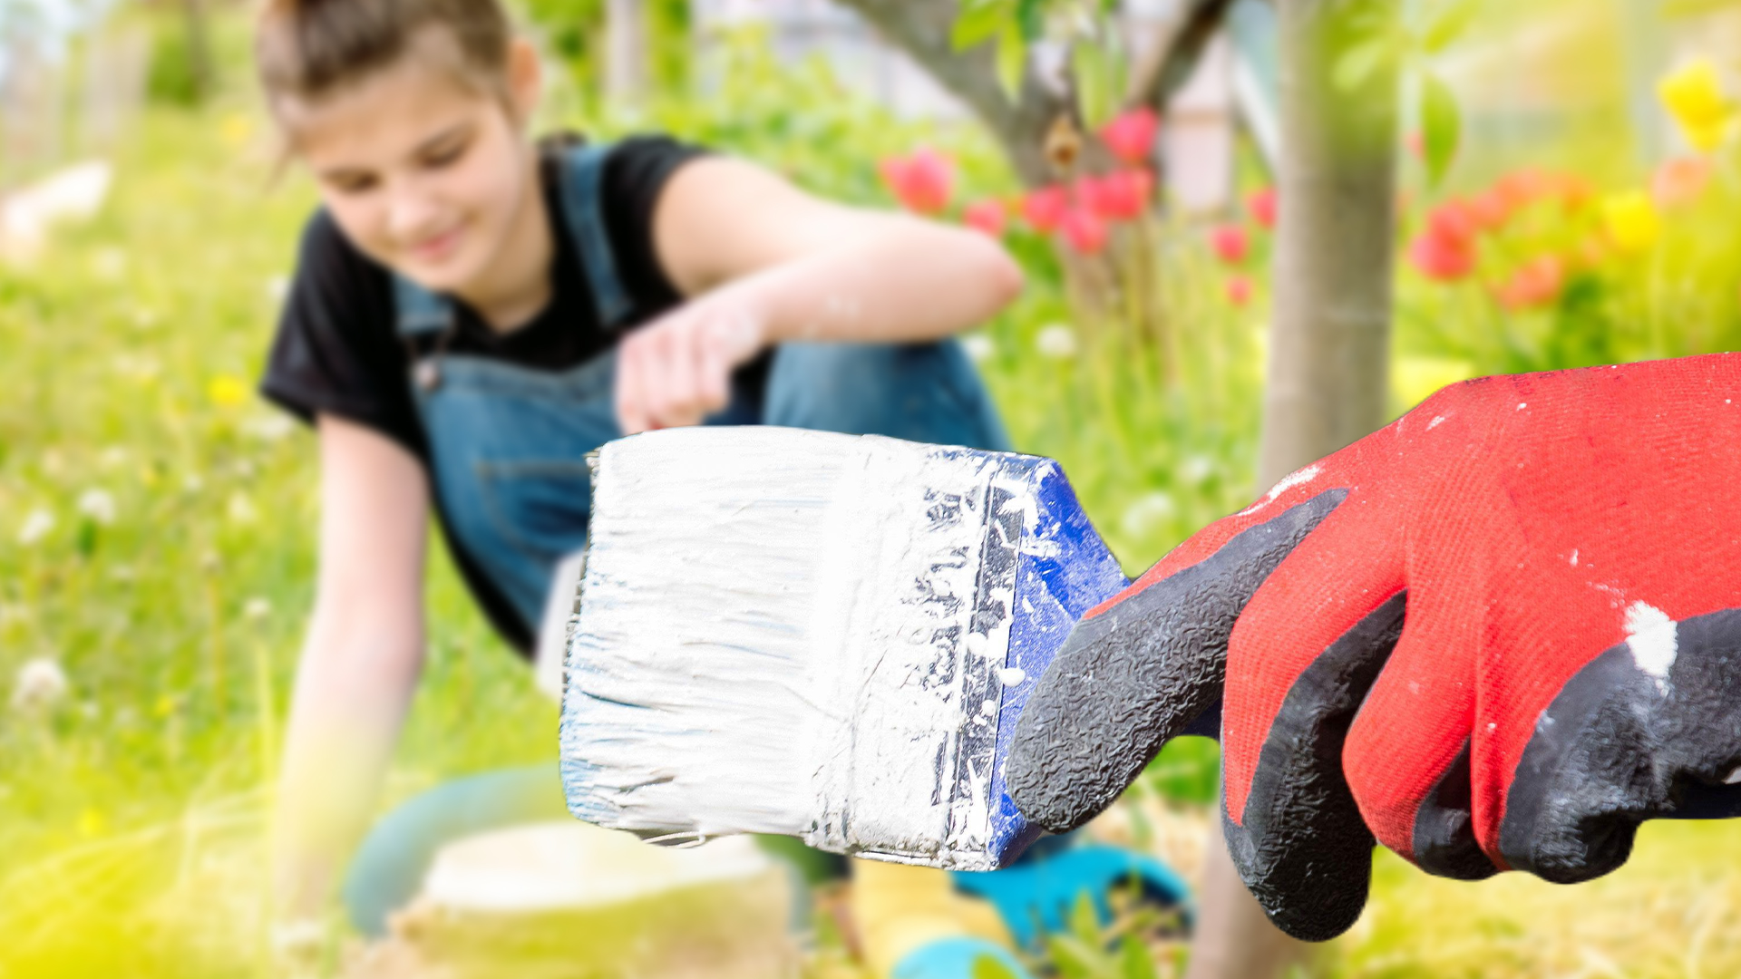
M 1039 186 L 1057 179 L 1046 162 L 1046 129 L 1071 111 L 1064 91 L 1053 91 L 1029 70 L 1020 99 L 1010 101 L 998 82 L 991 44 L 956 51 L 949 42 L 956 0 L 837 0 L 857 10 L 884 40 L 907 52 L 942 87 L 961 99 L 991 129 L 1022 183 Z

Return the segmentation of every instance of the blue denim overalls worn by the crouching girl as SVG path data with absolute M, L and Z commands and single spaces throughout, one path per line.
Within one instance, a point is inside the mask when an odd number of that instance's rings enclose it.
M 616 273 L 601 213 L 606 146 L 568 150 L 562 223 L 580 254 L 599 324 L 639 322 Z M 397 279 L 399 334 L 425 350 L 411 390 L 430 448 L 437 505 L 454 544 L 536 627 L 557 561 L 587 540 L 587 453 L 618 437 L 611 401 L 615 350 L 540 371 L 447 354 L 453 300 Z M 940 343 L 785 343 L 761 395 L 736 385 L 709 425 L 785 425 L 1006 449 L 1003 423 L 971 362 Z M 421 885 L 442 843 L 491 827 L 562 819 L 554 765 L 487 772 L 437 786 L 388 814 L 364 840 L 345 881 L 357 928 L 385 932 L 388 911 Z

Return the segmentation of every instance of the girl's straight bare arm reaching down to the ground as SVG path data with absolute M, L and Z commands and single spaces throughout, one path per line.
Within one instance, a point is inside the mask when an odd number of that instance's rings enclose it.
M 279 911 L 320 913 L 374 814 L 423 667 L 423 469 L 385 435 L 322 415 L 320 573 L 296 672 L 273 820 Z

